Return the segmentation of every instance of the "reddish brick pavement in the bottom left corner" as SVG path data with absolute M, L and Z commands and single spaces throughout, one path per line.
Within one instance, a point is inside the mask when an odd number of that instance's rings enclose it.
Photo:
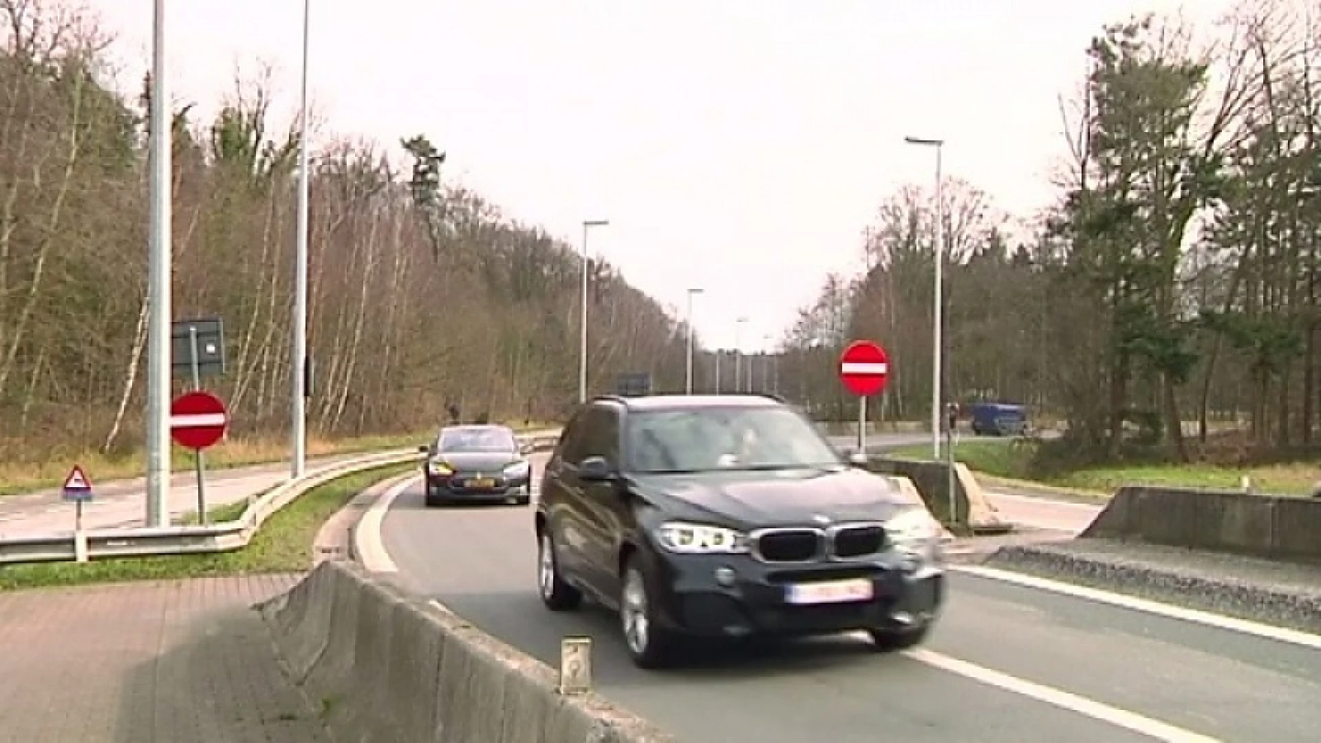
M 0 592 L 0 743 L 320 743 L 250 607 L 291 575 Z

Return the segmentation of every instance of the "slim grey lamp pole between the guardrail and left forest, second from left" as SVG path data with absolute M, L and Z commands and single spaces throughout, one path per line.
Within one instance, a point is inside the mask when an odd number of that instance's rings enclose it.
M 308 147 L 308 46 L 310 41 L 312 0 L 303 0 L 303 82 L 299 100 L 299 215 L 293 249 L 293 349 L 292 369 L 292 476 L 301 477 L 306 465 L 308 444 L 308 198 L 312 180 L 312 156 Z

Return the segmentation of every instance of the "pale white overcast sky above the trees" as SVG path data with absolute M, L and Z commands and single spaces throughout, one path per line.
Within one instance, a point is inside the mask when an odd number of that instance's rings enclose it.
M 92 0 L 123 79 L 152 3 Z M 168 3 L 169 81 L 205 112 L 273 65 L 297 106 L 301 0 Z M 826 274 L 856 271 L 876 205 L 946 172 L 1012 213 L 1053 198 L 1058 95 L 1104 22 L 1215 16 L 1225 0 L 312 0 L 310 86 L 328 132 L 425 132 L 448 177 L 580 242 L 711 344 L 778 340 Z M 313 246 L 314 247 L 314 246 Z

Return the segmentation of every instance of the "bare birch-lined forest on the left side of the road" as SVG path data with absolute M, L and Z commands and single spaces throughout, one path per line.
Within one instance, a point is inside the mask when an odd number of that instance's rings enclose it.
M 120 91 L 112 41 L 73 4 L 0 1 L 0 463 L 143 442 L 151 81 Z M 234 439 L 289 428 L 297 128 L 264 78 L 211 120 L 173 114 L 173 315 L 225 325 Z M 188 91 L 174 91 L 186 99 Z M 309 137 L 310 139 L 310 137 Z M 318 132 L 309 152 L 312 435 L 557 420 L 577 398 L 581 253 L 443 175 L 425 132 Z M 682 389 L 670 308 L 590 260 L 589 386 Z M 176 391 L 190 389 L 182 374 Z

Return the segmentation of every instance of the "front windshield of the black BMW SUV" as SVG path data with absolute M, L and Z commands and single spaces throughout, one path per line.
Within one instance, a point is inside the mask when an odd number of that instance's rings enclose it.
M 783 407 L 688 407 L 630 412 L 625 467 L 637 473 L 835 467 L 839 455 Z

